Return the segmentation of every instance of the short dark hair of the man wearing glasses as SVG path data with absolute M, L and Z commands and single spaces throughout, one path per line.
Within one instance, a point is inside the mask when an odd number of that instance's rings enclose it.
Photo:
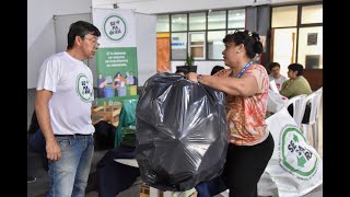
M 92 34 L 94 36 L 100 37 L 101 32 L 96 26 L 85 21 L 77 21 L 69 26 L 68 32 L 68 46 L 67 49 L 73 48 L 75 36 L 80 36 L 82 39 L 86 34 Z

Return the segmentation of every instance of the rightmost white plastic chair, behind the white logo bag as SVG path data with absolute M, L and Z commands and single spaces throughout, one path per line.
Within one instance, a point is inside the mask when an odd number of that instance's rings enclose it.
M 305 137 L 307 137 L 308 126 L 312 126 L 313 147 L 316 150 L 318 149 L 318 112 L 320 107 L 322 94 L 323 94 L 323 88 L 313 92 L 305 99 L 305 107 L 307 103 L 311 103 L 310 119 L 308 119 L 308 123 L 302 124 L 302 129 L 303 129 L 303 132 L 305 134 Z

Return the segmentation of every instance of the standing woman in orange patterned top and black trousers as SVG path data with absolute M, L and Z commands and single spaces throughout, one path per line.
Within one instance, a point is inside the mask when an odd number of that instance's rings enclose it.
M 230 144 L 221 177 L 231 196 L 257 196 L 257 183 L 273 152 L 273 138 L 265 123 L 269 77 L 264 66 L 253 62 L 262 53 L 257 33 L 235 31 L 223 39 L 223 60 L 230 69 L 214 76 L 195 72 L 186 77 L 222 91 L 226 96 Z M 212 195 L 213 196 L 213 195 Z

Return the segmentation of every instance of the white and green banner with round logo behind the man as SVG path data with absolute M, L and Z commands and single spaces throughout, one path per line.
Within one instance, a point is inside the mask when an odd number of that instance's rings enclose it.
M 100 30 L 96 53 L 97 105 L 137 99 L 136 16 L 132 10 L 93 9 Z

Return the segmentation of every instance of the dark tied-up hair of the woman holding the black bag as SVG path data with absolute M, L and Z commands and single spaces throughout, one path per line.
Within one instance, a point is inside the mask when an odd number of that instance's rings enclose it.
M 253 59 L 256 54 L 262 53 L 262 44 L 260 42 L 259 34 L 256 32 L 249 32 L 248 30 L 236 30 L 233 34 L 228 34 L 222 40 L 224 44 L 233 42 L 236 46 L 243 44 L 247 56 Z

